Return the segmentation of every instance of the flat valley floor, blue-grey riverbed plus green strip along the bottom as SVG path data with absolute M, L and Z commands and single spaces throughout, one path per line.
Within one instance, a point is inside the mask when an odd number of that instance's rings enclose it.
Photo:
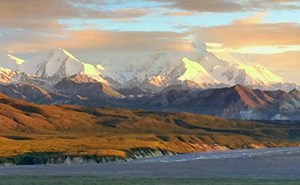
M 0 167 L 0 184 L 298 185 L 300 148 L 216 151 L 130 162 Z

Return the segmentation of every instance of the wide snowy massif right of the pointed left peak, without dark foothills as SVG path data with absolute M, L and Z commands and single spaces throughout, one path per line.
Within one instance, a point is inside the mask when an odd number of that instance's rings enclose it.
M 245 85 L 263 90 L 297 88 L 281 76 L 261 65 L 245 62 L 234 53 L 211 53 L 205 45 L 197 45 L 196 53 L 158 53 L 144 57 L 129 57 L 122 61 L 104 62 L 103 75 L 125 84 L 147 82 L 163 89 L 172 84 L 189 83 L 196 88 Z M 241 62 L 242 61 L 242 62 Z M 119 64 L 119 65 L 115 65 Z M 128 83 L 130 82 L 130 83 Z

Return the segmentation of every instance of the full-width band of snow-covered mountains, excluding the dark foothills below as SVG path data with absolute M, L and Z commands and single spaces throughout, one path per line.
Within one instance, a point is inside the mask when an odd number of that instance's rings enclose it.
M 154 92 L 180 84 L 200 89 L 236 84 L 263 90 L 289 91 L 297 88 L 296 84 L 263 66 L 246 64 L 245 59 L 236 54 L 211 53 L 203 44 L 195 45 L 195 48 L 198 50 L 191 56 L 156 53 L 117 61 L 100 60 L 97 65 L 81 62 L 61 48 L 28 60 L 2 54 L 0 82 L 8 84 L 24 79 L 39 79 L 54 85 L 66 77 L 81 74 L 114 89 L 139 87 Z

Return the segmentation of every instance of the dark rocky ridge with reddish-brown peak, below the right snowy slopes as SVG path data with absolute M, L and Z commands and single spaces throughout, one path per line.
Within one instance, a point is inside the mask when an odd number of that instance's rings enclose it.
M 299 91 L 261 91 L 235 85 L 207 90 L 163 91 L 144 106 L 158 110 L 189 111 L 229 119 L 300 119 Z

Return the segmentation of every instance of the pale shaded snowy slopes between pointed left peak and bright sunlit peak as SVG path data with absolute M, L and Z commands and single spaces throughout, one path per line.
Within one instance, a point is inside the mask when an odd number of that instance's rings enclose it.
M 182 57 L 181 53 L 155 53 L 102 61 L 105 69 L 103 74 L 123 84 L 131 80 L 142 82 L 156 76 L 166 76 Z

